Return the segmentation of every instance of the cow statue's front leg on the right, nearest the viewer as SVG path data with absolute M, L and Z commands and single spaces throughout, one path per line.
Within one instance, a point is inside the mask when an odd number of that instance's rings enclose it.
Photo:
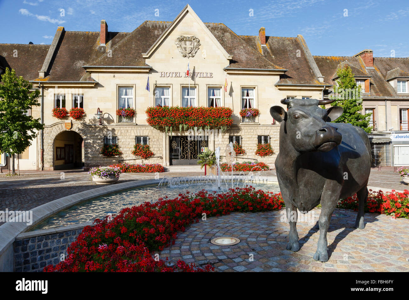
M 321 214 L 319 215 L 319 239 L 317 244 L 317 251 L 314 254 L 314 259 L 320 262 L 328 261 L 328 242 L 327 232 L 330 226 L 332 213 L 339 200 L 339 193 L 327 191 L 321 195 Z

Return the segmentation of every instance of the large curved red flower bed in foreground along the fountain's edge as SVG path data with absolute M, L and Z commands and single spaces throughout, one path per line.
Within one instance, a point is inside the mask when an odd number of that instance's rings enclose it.
M 176 267 L 166 267 L 163 260 L 155 261 L 153 251 L 174 244 L 178 231 L 198 222 L 202 213 L 207 217 L 232 211 L 271 211 L 281 209 L 280 194 L 265 193 L 253 187 L 230 189 L 211 194 L 180 194 L 175 199 L 161 198 L 155 203 L 121 210 L 112 220 L 108 216 L 87 226 L 67 249 L 67 258 L 44 271 L 213 271 L 207 265 L 199 269 L 194 264 L 178 261 Z

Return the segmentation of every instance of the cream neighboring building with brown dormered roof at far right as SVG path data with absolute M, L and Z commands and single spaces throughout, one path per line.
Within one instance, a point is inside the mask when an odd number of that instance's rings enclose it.
M 373 57 L 365 49 L 355 56 L 314 56 L 318 68 L 330 84 L 336 71 L 348 65 L 362 87 L 362 113 L 372 113 L 369 134 L 373 164 L 376 166 L 409 165 L 408 130 L 409 58 Z M 328 93 L 324 98 L 328 97 Z

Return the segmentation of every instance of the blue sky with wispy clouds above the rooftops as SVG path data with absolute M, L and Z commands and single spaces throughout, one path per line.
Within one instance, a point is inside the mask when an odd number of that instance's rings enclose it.
M 302 34 L 312 55 L 372 49 L 374 56 L 409 56 L 407 0 L 0 0 L 0 43 L 50 44 L 58 26 L 99 31 L 101 19 L 109 31 L 130 32 L 144 20 L 172 21 L 187 3 L 203 22 L 224 23 L 238 35 L 258 35 L 260 27 L 267 36 Z

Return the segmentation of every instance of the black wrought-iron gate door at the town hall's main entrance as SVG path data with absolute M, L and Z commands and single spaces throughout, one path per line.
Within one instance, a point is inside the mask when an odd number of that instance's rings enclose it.
M 207 147 L 207 140 L 189 140 L 187 136 L 172 136 L 170 162 L 172 165 L 197 164 L 198 154 L 204 150 L 203 147 Z

